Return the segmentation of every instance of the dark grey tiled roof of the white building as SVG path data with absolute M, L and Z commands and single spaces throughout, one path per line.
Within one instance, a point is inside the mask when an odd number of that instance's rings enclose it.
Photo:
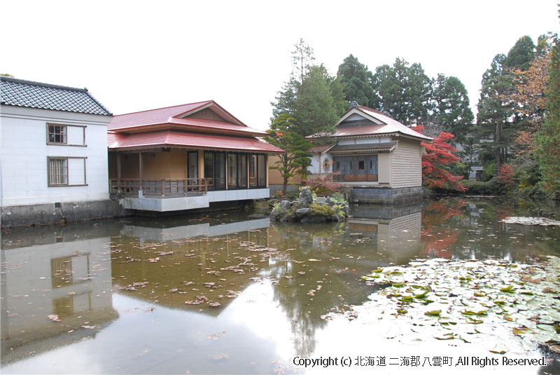
M 111 116 L 111 112 L 97 102 L 86 88 L 56 86 L 6 76 L 0 76 L 0 104 Z

